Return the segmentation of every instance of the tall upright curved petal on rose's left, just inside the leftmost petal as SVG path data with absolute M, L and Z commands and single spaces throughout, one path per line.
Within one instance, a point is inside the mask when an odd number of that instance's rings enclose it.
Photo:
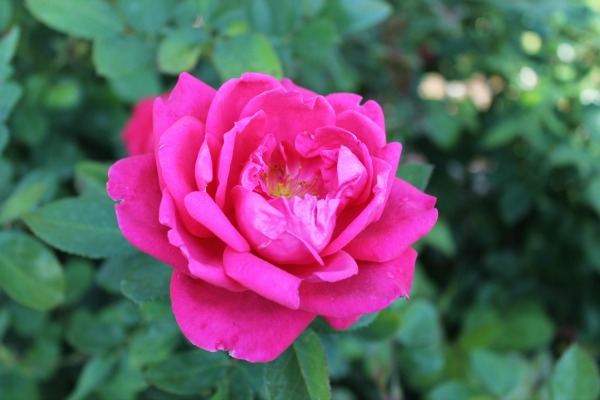
M 202 122 L 192 117 L 181 118 L 160 137 L 157 159 L 165 187 L 173 196 L 185 227 L 196 236 L 210 237 L 210 231 L 189 215 L 184 201 L 189 193 L 205 189 L 196 186 L 195 176 L 203 140 Z

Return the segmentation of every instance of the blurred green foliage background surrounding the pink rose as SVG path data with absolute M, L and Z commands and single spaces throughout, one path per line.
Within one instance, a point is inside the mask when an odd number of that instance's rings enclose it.
M 597 398 L 599 56 L 597 0 L 0 0 L 0 397 L 227 398 L 178 358 L 166 286 L 136 285 L 167 269 L 72 249 L 36 210 L 107 203 L 131 106 L 180 72 L 262 71 L 378 101 L 399 176 L 438 198 L 411 300 L 314 324 L 335 399 Z M 26 295 L 15 232 L 58 265 Z

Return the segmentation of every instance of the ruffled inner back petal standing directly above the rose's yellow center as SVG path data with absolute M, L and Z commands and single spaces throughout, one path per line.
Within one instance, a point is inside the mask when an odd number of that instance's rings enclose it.
M 267 115 L 265 131 L 273 133 L 279 141 L 294 143 L 302 132 L 311 132 L 321 126 L 334 125 L 335 113 L 321 96 L 308 100 L 298 92 L 284 88 L 261 93 L 248 102 L 240 117 L 248 117 L 258 111 Z

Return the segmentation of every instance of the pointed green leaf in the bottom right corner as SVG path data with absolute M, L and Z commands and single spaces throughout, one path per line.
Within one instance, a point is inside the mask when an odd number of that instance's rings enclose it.
M 600 374 L 596 361 L 577 344 L 565 351 L 550 377 L 553 400 L 594 400 L 600 394 Z

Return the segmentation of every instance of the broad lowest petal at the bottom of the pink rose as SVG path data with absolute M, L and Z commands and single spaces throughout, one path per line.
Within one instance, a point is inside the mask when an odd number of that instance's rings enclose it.
M 228 350 L 250 362 L 274 360 L 315 317 L 250 291 L 232 293 L 181 273 L 171 279 L 171 302 L 190 342 L 208 351 Z

